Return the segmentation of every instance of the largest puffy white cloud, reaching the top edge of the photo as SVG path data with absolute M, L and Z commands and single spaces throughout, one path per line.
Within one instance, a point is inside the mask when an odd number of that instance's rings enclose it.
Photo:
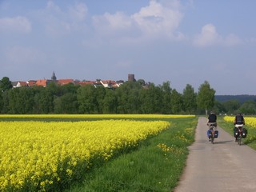
M 103 14 L 93 17 L 94 28 L 102 36 L 118 34 L 123 39 L 141 37 L 171 39 L 183 38 L 178 32 L 179 23 L 182 21 L 182 13 L 177 0 L 168 2 L 168 6 L 162 5 L 156 0 L 151 0 L 149 6 L 135 14 L 126 15 L 122 12 L 115 14 Z M 126 33 L 129 31 L 129 34 Z M 121 34 L 122 32 L 122 34 Z

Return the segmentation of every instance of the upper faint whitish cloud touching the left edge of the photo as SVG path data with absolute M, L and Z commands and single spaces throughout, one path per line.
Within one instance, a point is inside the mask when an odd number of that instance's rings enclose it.
M 0 18 L 0 31 L 30 33 L 31 24 L 26 17 Z

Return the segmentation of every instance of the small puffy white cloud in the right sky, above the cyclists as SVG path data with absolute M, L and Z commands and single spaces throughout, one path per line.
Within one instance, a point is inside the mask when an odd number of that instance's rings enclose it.
M 194 45 L 196 46 L 234 46 L 239 43 L 242 43 L 242 39 L 238 38 L 238 36 L 229 34 L 226 37 L 222 37 L 211 23 L 203 26 L 201 33 L 194 38 Z

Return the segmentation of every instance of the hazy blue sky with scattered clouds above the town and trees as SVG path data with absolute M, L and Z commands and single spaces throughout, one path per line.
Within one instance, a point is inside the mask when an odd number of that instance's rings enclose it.
M 0 78 L 256 94 L 254 0 L 0 0 Z

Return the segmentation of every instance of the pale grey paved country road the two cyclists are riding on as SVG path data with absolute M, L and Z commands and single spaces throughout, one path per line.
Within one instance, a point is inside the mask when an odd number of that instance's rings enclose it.
M 206 118 L 198 118 L 195 142 L 175 192 L 256 192 L 256 151 L 239 146 L 218 126 L 214 145 L 206 137 Z M 248 130 L 250 134 L 250 130 Z

